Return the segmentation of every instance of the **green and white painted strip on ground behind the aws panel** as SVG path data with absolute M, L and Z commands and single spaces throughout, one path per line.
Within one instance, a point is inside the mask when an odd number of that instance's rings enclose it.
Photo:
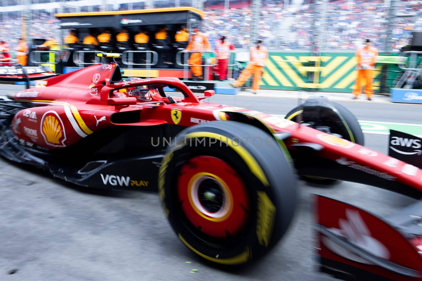
M 285 115 L 276 115 L 284 118 Z M 365 121 L 359 120 L 362 131 L 367 134 L 390 134 L 391 130 L 400 131 L 414 136 L 422 137 L 422 125 L 407 124 L 407 123 L 394 123 L 394 122 L 379 122 L 379 121 Z

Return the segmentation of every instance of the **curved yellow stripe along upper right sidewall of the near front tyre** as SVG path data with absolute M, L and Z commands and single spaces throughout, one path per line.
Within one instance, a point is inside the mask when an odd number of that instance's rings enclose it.
M 210 133 L 210 132 L 193 132 L 193 133 L 187 134 L 186 137 L 187 138 L 209 137 L 209 138 L 219 139 L 220 142 L 225 142 L 238 155 L 240 155 L 240 157 L 243 159 L 243 161 L 245 161 L 246 165 L 249 167 L 249 170 L 252 171 L 252 174 L 254 174 L 260 180 L 260 182 L 262 182 L 263 185 L 265 186 L 270 185 L 267 177 L 264 174 L 264 171 L 262 171 L 261 166 L 255 160 L 255 158 L 244 147 L 242 147 L 238 142 L 235 142 L 233 139 L 230 139 L 227 136 L 223 136 L 216 133 Z

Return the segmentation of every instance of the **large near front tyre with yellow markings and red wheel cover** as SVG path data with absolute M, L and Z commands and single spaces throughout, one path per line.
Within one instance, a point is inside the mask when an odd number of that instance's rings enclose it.
M 235 121 L 192 126 L 176 140 L 162 159 L 158 188 L 179 239 L 222 265 L 257 260 L 273 248 L 297 197 L 296 176 L 276 140 Z

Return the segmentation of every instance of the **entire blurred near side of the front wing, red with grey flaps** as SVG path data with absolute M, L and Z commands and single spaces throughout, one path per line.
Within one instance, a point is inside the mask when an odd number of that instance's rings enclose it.
M 422 202 L 381 219 L 316 195 L 320 270 L 344 280 L 422 280 Z

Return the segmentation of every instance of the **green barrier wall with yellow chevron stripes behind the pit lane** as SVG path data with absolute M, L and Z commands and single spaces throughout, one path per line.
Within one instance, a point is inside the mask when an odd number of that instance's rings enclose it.
M 318 62 L 313 60 L 316 59 L 310 53 L 270 52 L 262 75 L 261 88 L 304 90 L 315 87 L 317 91 L 353 91 L 357 75 L 354 53 L 323 53 L 318 57 Z M 380 89 L 381 68 L 382 64 L 376 64 L 378 71 L 375 72 L 373 82 L 376 93 Z M 389 79 L 394 79 L 396 75 L 389 75 Z M 315 80 L 317 83 L 314 83 Z

